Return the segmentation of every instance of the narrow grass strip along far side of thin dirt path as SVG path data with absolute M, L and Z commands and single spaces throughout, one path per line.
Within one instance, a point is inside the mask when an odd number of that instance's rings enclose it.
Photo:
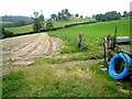
M 73 62 L 73 61 L 88 61 L 88 59 L 100 59 L 103 58 L 102 53 L 95 52 L 81 52 L 81 53 L 75 53 L 75 54 L 61 54 L 54 57 L 50 58 L 36 58 L 35 64 L 62 64 L 66 62 Z

